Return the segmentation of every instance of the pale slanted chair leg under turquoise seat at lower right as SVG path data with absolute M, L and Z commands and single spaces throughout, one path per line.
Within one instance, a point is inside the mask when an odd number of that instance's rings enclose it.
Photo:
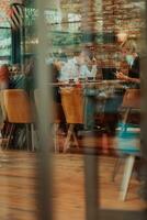
M 125 200 L 126 195 L 127 195 L 128 185 L 129 185 L 129 180 L 131 180 L 131 177 L 132 177 L 134 163 L 135 163 L 135 156 L 129 155 L 126 158 L 126 162 L 125 162 L 124 175 L 123 175 L 123 180 L 122 180 L 122 185 L 121 185 L 120 199 L 123 200 L 123 201 Z

